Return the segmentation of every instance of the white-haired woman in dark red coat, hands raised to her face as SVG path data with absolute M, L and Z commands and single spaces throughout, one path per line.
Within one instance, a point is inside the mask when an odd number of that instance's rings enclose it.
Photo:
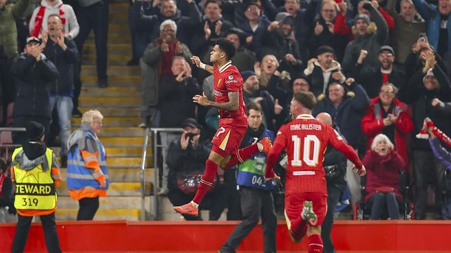
M 363 162 L 367 173 L 364 201 L 371 205 L 370 219 L 381 219 L 385 207 L 391 220 L 399 219 L 398 201 L 402 199 L 399 171 L 403 170 L 404 162 L 395 146 L 386 135 L 379 133 Z

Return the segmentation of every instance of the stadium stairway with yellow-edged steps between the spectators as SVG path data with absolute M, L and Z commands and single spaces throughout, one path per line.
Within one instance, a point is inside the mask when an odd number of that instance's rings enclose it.
M 83 48 L 83 82 L 80 107 L 82 112 L 98 109 L 104 115 L 103 127 L 99 138 L 107 152 L 107 167 L 110 186 L 107 198 L 100 199 L 100 208 L 95 220 L 126 219 L 140 220 L 140 162 L 143 152 L 144 129 L 138 128 L 140 69 L 129 67 L 127 61 L 132 56 L 132 45 L 127 25 L 128 2 L 116 2 L 109 5 L 108 31 L 108 83 L 109 87 L 97 87 L 96 54 L 94 36 L 86 41 Z M 72 118 L 72 129 L 77 129 L 81 118 Z M 151 181 L 154 169 L 150 168 L 151 145 L 147 154 L 145 169 L 145 206 L 149 219 Z M 59 153 L 55 148 L 56 153 Z M 78 201 L 68 197 L 66 181 L 67 169 L 61 168 L 63 181 L 58 187 L 59 203 L 56 219 L 60 221 L 75 220 Z

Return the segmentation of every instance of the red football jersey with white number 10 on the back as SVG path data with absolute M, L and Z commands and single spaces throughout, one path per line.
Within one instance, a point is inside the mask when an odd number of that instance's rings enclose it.
M 361 168 L 360 159 L 354 149 L 348 146 L 331 126 L 307 114 L 299 115 L 279 129 L 266 167 L 272 169 L 273 157 L 277 159 L 283 148 L 286 148 L 288 159 L 285 194 L 327 193 L 323 160 L 328 144 L 342 151 L 348 159 L 357 164 L 357 168 Z

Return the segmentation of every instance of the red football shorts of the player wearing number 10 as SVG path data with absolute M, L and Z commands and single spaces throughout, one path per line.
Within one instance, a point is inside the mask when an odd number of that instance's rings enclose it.
M 327 194 L 322 192 L 299 192 L 285 197 L 285 219 L 288 229 L 291 223 L 301 218 L 304 201 L 313 202 L 313 212 L 318 217 L 317 225 L 322 225 L 327 212 Z

